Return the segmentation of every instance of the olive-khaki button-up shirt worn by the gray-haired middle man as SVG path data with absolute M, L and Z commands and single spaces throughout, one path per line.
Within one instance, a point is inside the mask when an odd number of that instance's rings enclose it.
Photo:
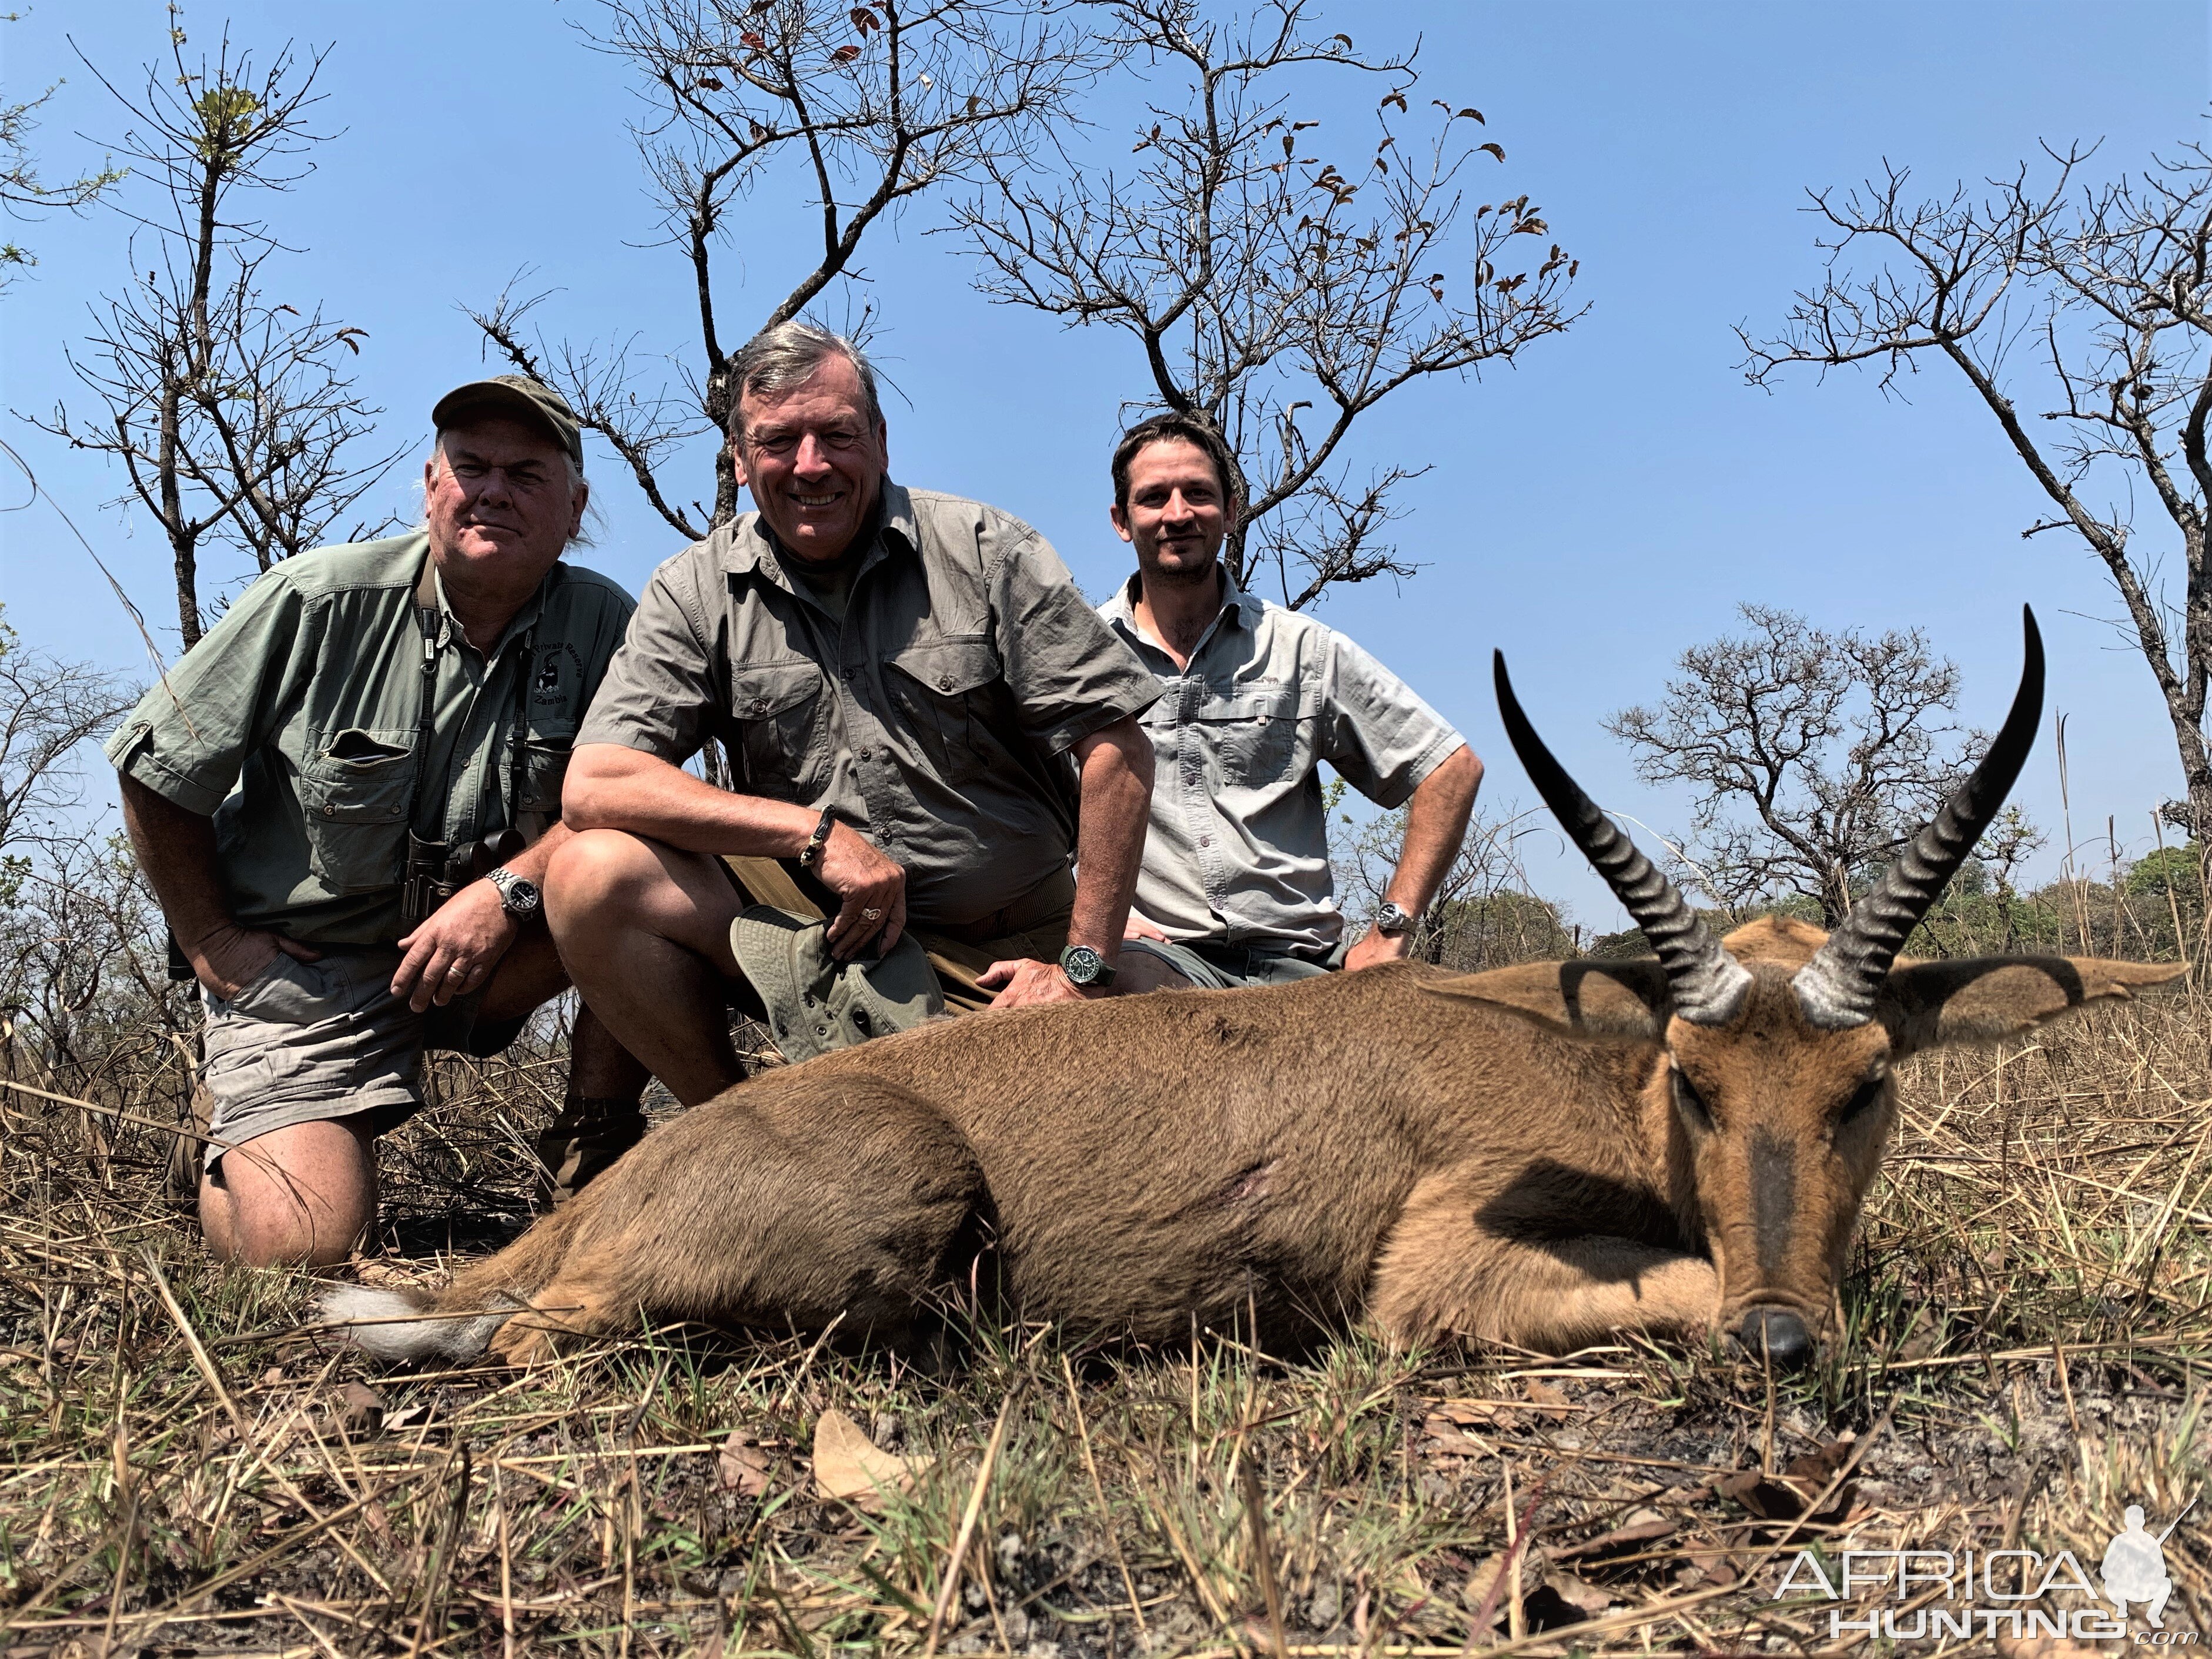
M 1159 697 L 1029 524 L 885 480 L 838 622 L 743 513 L 655 571 L 577 743 L 681 765 L 708 739 L 745 794 L 834 807 L 907 872 L 916 927 L 960 927 L 1068 867 L 1068 748 Z

